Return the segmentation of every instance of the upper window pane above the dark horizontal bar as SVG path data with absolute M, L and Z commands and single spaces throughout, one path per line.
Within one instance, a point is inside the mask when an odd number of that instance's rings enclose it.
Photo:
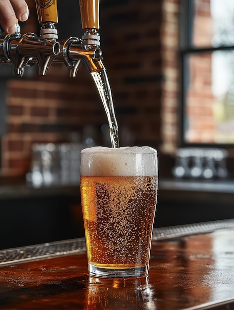
M 234 45 L 234 1 L 193 0 L 191 42 L 195 47 Z

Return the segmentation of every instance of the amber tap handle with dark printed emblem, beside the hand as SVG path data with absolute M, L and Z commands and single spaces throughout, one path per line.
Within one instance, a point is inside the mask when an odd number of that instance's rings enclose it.
M 57 0 L 35 0 L 39 24 L 58 23 Z

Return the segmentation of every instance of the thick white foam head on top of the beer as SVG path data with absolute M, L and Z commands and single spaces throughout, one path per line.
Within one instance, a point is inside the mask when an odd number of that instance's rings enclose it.
M 151 147 L 92 147 L 81 151 L 81 175 L 158 175 L 157 151 Z

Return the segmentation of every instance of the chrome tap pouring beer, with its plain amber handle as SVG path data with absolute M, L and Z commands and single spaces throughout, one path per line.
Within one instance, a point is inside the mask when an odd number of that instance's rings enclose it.
M 89 72 L 104 70 L 102 51 L 100 49 L 99 0 L 79 0 L 82 29 L 82 40 L 71 37 L 61 40 L 61 52 L 55 61 L 63 61 L 70 76 L 75 77 L 82 60 Z

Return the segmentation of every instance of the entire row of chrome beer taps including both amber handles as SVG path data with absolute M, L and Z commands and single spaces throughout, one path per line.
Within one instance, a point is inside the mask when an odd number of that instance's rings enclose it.
M 21 35 L 19 25 L 14 34 L 0 34 L 0 63 L 12 63 L 14 73 L 23 75 L 26 64 L 38 63 L 39 74 L 46 75 L 52 62 L 63 62 L 75 77 L 83 61 L 90 73 L 104 71 L 100 49 L 99 0 L 79 0 L 82 39 L 70 37 L 58 40 L 55 25 L 58 23 L 57 0 L 35 0 L 40 37 L 34 33 Z

